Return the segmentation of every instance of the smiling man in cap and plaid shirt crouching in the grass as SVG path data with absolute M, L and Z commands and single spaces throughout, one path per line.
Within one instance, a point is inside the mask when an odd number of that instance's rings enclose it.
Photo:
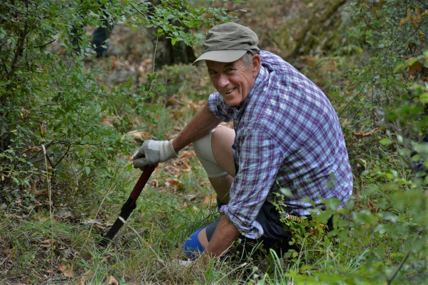
M 291 233 L 271 203 L 281 199 L 274 195 L 280 188 L 291 191 L 282 202 L 296 216 L 310 216 L 309 201 L 324 209 L 323 201 L 332 197 L 343 208 L 352 193 L 345 141 L 327 97 L 258 43 L 256 33 L 239 24 L 211 28 L 193 64 L 205 60 L 217 92 L 174 140 L 148 140 L 134 154 L 140 168 L 178 157 L 193 143 L 221 213 L 183 245 L 190 258 L 202 252 L 205 264 L 238 237 L 287 251 Z M 235 131 L 219 126 L 232 119 Z

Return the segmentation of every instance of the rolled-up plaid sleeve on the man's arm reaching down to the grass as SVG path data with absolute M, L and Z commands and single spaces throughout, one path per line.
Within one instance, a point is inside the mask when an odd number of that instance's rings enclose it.
M 283 156 L 278 145 L 261 131 L 247 130 L 238 140 L 240 153 L 235 157 L 239 159 L 239 171 L 230 189 L 229 204 L 223 205 L 220 213 L 242 235 L 255 239 L 263 235 L 256 217 L 275 182 Z

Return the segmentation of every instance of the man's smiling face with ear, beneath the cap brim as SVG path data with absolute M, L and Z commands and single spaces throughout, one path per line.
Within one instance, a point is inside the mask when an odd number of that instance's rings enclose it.
M 211 82 L 226 104 L 241 106 L 259 74 L 260 56 L 253 56 L 250 66 L 242 58 L 234 62 L 207 60 L 207 68 Z

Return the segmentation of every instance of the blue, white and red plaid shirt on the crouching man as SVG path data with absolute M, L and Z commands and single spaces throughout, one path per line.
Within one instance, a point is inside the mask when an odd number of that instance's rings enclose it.
M 279 56 L 260 56 L 259 74 L 241 107 L 226 105 L 217 92 L 208 100 L 217 118 L 233 119 L 236 133 L 232 148 L 239 171 L 220 213 L 247 238 L 263 235 L 255 219 L 280 188 L 291 191 L 284 203 L 300 216 L 310 214 L 310 201 L 322 208 L 323 200 L 336 197 L 343 208 L 352 194 L 348 153 L 330 101 Z

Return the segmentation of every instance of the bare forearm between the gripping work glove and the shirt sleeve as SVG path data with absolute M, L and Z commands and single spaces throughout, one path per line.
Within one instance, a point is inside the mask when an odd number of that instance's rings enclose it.
M 208 106 L 205 105 L 174 139 L 172 143 L 174 150 L 179 151 L 195 140 L 205 137 L 205 135 L 220 122 L 221 121 L 208 110 Z

